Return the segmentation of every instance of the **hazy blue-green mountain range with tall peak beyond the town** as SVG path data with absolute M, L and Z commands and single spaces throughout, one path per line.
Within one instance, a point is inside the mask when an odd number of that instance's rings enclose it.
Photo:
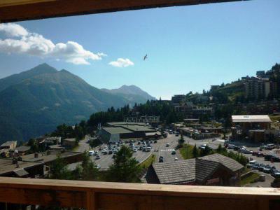
M 155 99 L 139 87 L 98 89 L 66 70 L 41 64 L 29 71 L 0 79 L 0 143 L 27 141 L 75 124 L 97 111 Z

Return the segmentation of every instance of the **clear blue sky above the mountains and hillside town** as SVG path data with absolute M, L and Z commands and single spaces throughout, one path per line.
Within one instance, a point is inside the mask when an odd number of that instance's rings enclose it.
M 79 57 L 73 64 L 73 57 L 69 62 L 55 52 L 7 53 L 0 45 L 0 78 L 47 62 L 99 88 L 133 84 L 162 99 L 202 92 L 280 62 L 279 8 L 279 0 L 254 0 L 17 22 L 54 45 L 78 43 L 83 56 L 107 56 L 86 58 L 89 64 L 77 64 Z M 4 32 L 0 29 L 0 44 L 15 38 Z M 118 58 L 134 65 L 109 64 Z

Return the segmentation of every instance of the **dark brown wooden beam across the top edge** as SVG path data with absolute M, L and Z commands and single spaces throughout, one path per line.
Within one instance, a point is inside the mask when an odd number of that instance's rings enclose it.
M 246 0 L 2 0 L 0 22 Z

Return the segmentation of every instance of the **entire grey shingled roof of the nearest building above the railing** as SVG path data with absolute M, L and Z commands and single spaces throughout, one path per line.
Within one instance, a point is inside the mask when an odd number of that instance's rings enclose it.
M 176 162 L 160 162 L 152 166 L 162 184 L 203 182 L 214 174 L 219 167 L 226 167 L 232 173 L 244 167 L 239 162 L 220 154 Z

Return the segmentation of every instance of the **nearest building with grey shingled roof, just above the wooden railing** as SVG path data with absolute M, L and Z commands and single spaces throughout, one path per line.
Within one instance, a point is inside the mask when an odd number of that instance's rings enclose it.
M 240 186 L 243 165 L 220 154 L 151 165 L 147 183 L 200 186 Z

